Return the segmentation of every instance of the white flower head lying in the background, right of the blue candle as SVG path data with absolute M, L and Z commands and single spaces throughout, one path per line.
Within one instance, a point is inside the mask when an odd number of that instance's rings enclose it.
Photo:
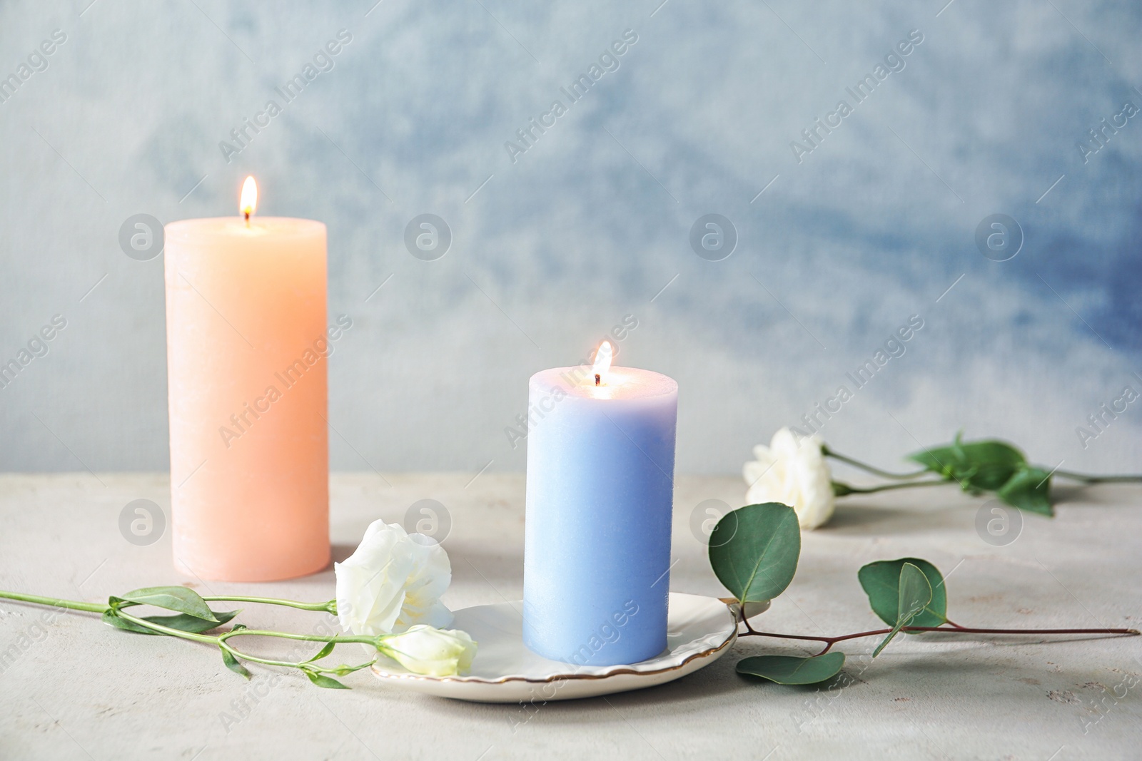
M 749 484 L 749 504 L 781 502 L 797 513 L 803 531 L 825 525 L 833 517 L 836 497 L 833 475 L 821 454 L 818 436 L 797 440 L 793 431 L 782 428 L 769 446 L 754 447 L 754 462 L 747 462 L 742 476 Z

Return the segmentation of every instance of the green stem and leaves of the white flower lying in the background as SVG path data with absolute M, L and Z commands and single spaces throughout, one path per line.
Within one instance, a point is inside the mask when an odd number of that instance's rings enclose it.
M 870 494 L 912 486 L 935 486 L 955 481 L 970 494 L 994 493 L 1005 503 L 1042 516 L 1054 516 L 1051 500 L 1052 478 L 1068 478 L 1083 484 L 1107 484 L 1115 481 L 1142 481 L 1142 476 L 1095 476 L 1069 470 L 1045 470 L 1032 465 L 1018 447 L 997 439 L 964 442 L 963 431 L 956 434 L 951 444 L 933 446 L 914 452 L 907 460 L 922 465 L 922 470 L 910 473 L 894 473 L 861 462 L 847 455 L 821 446 L 826 456 L 846 462 L 875 476 L 894 483 L 869 487 L 856 487 L 838 480 L 833 481 L 837 496 L 847 494 Z M 932 479 L 931 476 L 938 478 Z M 925 477 L 928 477 L 925 479 Z

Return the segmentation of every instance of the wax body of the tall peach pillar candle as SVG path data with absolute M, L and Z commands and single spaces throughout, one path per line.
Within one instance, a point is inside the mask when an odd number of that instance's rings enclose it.
M 329 564 L 325 226 L 166 227 L 175 567 L 273 581 Z

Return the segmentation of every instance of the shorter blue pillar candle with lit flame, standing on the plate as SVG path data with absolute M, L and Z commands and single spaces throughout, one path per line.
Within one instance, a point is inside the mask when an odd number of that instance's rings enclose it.
M 610 354 L 529 383 L 523 641 L 578 665 L 666 648 L 678 384 Z

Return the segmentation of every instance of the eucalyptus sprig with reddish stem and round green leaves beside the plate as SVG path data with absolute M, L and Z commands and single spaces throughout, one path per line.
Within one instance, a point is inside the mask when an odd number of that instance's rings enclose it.
M 982 471 L 976 471 L 981 473 Z M 1002 473 L 980 476 L 995 484 Z M 1008 476 L 1010 479 L 1010 476 Z M 813 685 L 835 677 L 844 666 L 845 655 L 833 646 L 851 639 L 883 637 L 872 651 L 875 658 L 901 632 L 948 632 L 960 634 L 1139 634 L 1135 629 L 976 629 L 960 626 L 948 618 L 948 592 L 943 575 L 927 560 L 900 558 L 863 566 L 856 574 L 868 594 L 869 606 L 888 629 L 813 637 L 755 630 L 745 615 L 750 602 L 781 594 L 793 582 L 801 557 L 801 529 L 793 508 L 778 502 L 749 504 L 733 510 L 718 521 L 710 534 L 710 566 L 718 581 L 733 594 L 739 637 L 822 642 L 823 648 L 807 657 L 756 655 L 738 662 L 741 674 L 761 677 L 779 685 Z

